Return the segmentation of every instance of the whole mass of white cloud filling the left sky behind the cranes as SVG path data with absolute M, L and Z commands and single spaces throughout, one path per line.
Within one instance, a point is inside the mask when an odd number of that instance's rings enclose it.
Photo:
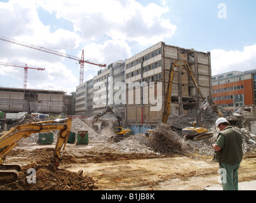
M 83 47 L 86 60 L 109 65 L 117 60 L 131 57 L 131 47 L 128 44 L 130 42 L 133 42 L 133 45 L 147 46 L 173 36 L 176 26 L 163 18 L 163 14 L 169 9 L 165 1 L 161 3 L 160 6 L 154 3 L 142 6 L 135 0 L 0 2 L 0 36 L 44 48 L 81 49 Z M 42 8 L 46 11 L 46 16 L 48 12 L 51 14 L 49 16 L 54 18 L 48 16 L 47 20 L 50 23 L 45 23 L 46 19 L 40 18 L 39 11 Z M 60 18 L 71 22 L 73 29 L 67 30 L 51 23 L 51 20 L 58 22 Z M 45 67 L 46 70 L 43 72 L 29 71 L 28 82 L 31 87 L 74 86 L 76 88 L 79 85 L 79 65 L 75 65 L 76 62 L 69 62 L 74 65 L 67 65 L 64 57 L 3 41 L 0 41 L 0 46 L 0 62 L 27 63 L 35 67 Z M 78 57 L 80 56 L 81 53 Z M 77 70 L 74 70 L 74 66 Z M 97 75 L 99 69 L 95 65 L 86 64 L 84 81 Z M 15 73 L 3 72 L 3 69 L 0 69 L 0 75 L 8 75 L 13 81 L 17 79 L 20 81 L 19 84 L 23 84 L 24 74 L 15 76 L 13 74 Z M 4 82 L 4 79 L 1 79 L 1 82 Z M 6 84 L 11 86 L 7 79 Z

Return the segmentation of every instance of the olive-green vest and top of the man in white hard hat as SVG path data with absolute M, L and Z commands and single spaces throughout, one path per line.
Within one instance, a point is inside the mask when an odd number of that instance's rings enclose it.
M 243 136 L 239 131 L 228 126 L 220 131 L 215 145 L 221 147 L 215 151 L 218 161 L 225 164 L 239 164 L 243 159 Z

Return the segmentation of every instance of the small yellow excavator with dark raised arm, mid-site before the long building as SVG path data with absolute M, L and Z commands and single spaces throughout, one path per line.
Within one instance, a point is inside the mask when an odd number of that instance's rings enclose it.
M 106 110 L 104 110 L 103 112 L 101 112 L 98 115 L 95 115 L 95 117 L 93 117 L 93 122 L 97 122 L 98 119 L 100 117 L 102 117 L 103 115 L 107 114 L 111 112 L 111 114 L 114 115 L 114 117 L 116 117 L 116 119 L 118 119 L 118 127 L 115 128 L 115 136 L 112 136 L 112 139 L 114 139 L 114 141 L 121 141 L 124 138 L 127 138 L 128 136 L 131 135 L 131 129 L 125 129 L 121 127 L 121 122 L 123 121 L 123 119 L 120 117 L 120 115 L 118 115 L 117 112 L 115 112 L 113 110 L 113 107 L 109 107 Z

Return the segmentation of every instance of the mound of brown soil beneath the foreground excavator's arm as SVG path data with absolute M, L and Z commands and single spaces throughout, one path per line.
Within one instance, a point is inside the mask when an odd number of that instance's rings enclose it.
M 27 181 L 27 169 L 36 170 L 36 184 Z M 52 164 L 28 164 L 22 167 L 18 180 L 13 183 L 0 184 L 0 190 L 93 190 L 97 188 L 90 176 L 83 176 L 83 171 L 74 173 L 57 169 Z

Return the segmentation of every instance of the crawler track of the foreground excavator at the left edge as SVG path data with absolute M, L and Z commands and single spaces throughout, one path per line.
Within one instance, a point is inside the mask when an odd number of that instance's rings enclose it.
M 21 171 L 21 168 L 18 165 L 1 165 L 0 182 L 11 183 L 16 181 L 19 171 Z

